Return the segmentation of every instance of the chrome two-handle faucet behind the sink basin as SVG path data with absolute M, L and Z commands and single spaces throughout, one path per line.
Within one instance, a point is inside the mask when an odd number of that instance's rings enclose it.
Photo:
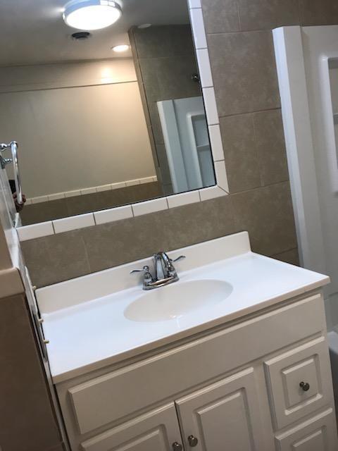
M 144 266 L 142 269 L 134 269 L 130 272 L 130 274 L 144 273 L 144 290 L 154 290 L 154 288 L 163 287 L 164 285 L 168 285 L 169 283 L 173 283 L 179 280 L 173 263 L 185 259 L 184 255 L 180 255 L 180 257 L 177 257 L 177 259 L 172 260 L 165 252 L 158 252 L 157 254 L 154 254 L 153 258 L 155 268 L 154 277 L 151 276 L 149 266 Z

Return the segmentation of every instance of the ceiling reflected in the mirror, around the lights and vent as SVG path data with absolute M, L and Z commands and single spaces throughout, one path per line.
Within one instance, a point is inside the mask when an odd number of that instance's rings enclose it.
M 73 32 L 63 22 L 67 0 L 0 0 L 0 66 L 79 61 L 113 57 L 111 47 L 129 44 L 132 25 L 188 23 L 186 0 L 118 0 L 123 16 L 111 27 L 92 32 L 82 42 L 71 39 Z

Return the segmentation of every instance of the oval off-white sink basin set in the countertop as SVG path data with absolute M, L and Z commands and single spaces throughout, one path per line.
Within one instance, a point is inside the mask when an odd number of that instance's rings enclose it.
M 223 280 L 192 280 L 155 288 L 138 297 L 125 309 L 132 321 L 167 321 L 223 302 L 232 285 Z

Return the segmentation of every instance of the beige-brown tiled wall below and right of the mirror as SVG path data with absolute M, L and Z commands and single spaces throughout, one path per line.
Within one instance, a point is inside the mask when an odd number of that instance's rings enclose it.
M 297 263 L 271 30 L 338 24 L 337 0 L 203 0 L 230 196 L 23 242 L 38 286 L 240 230 Z

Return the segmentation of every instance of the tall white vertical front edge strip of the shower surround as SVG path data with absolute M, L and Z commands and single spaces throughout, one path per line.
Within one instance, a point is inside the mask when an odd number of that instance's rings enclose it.
M 301 265 L 325 272 L 301 27 L 273 30 Z

